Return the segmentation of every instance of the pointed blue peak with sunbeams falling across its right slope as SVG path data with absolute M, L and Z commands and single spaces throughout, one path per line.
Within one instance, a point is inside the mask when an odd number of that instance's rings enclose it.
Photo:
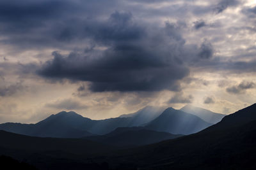
M 195 115 L 168 108 L 159 117 L 146 125 L 145 128 L 171 134 L 192 134 L 202 131 L 202 129 L 210 125 L 212 124 L 205 122 Z

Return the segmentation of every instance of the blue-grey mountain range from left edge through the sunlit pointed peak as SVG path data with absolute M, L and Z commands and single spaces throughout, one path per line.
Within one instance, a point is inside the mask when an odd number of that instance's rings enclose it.
M 105 120 L 91 120 L 74 111 L 61 111 L 36 124 L 0 124 L 0 130 L 37 137 L 83 138 L 108 134 L 118 127 L 143 126 L 152 131 L 191 134 L 211 125 L 183 111 L 168 108 L 161 113 L 162 110 L 163 108 L 146 107 L 136 113 Z

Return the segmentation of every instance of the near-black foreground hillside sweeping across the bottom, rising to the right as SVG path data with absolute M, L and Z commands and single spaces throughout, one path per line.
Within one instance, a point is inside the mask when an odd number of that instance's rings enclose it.
M 144 128 L 118 128 L 108 136 Z M 39 169 L 255 169 L 255 134 L 253 104 L 195 134 L 128 149 L 88 139 L 37 138 L 0 131 L 0 155 L 26 160 Z

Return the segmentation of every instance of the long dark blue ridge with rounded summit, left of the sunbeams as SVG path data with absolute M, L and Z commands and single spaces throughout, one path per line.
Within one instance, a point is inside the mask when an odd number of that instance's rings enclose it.
M 136 117 L 91 120 L 78 115 L 74 111 L 61 111 L 36 124 L 5 123 L 0 124 L 0 129 L 28 136 L 82 138 L 94 134 L 107 134 L 117 127 L 132 127 L 140 124 L 139 122 L 143 122 L 142 118 L 145 118 L 145 116 L 141 117 L 141 114 L 139 114 Z

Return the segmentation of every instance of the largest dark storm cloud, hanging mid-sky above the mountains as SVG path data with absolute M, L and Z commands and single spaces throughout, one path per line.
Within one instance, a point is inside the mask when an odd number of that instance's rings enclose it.
M 179 80 L 188 76 L 189 69 L 182 64 L 187 54 L 179 25 L 166 23 L 158 30 L 145 27 L 134 22 L 131 13 L 116 11 L 106 22 L 88 26 L 95 43 L 106 46 L 100 55 L 54 52 L 54 59 L 38 74 L 90 81 L 93 92 L 180 90 Z

